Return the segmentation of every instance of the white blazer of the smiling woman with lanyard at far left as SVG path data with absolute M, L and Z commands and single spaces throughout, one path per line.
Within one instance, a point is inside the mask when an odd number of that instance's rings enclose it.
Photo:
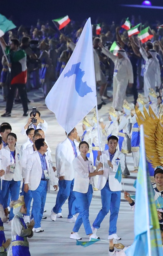
M 2 176 L 2 180 L 22 180 L 22 165 L 20 162 L 21 151 L 15 147 L 15 171 L 9 173 L 11 163 L 14 164 L 14 159 L 11 156 L 10 149 L 8 146 L 1 149 L 2 153 L 2 169 L 5 171 L 5 175 Z

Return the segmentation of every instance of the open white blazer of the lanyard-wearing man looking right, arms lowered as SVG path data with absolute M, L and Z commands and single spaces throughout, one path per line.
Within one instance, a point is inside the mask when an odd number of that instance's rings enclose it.
M 53 171 L 53 168 L 51 167 L 51 164 L 49 162 L 48 156 L 46 155 L 46 164 L 48 169 L 48 175 L 50 177 L 50 180 L 48 180 L 48 189 L 47 191 L 50 191 L 50 182 L 51 185 L 57 185 L 57 179 L 55 177 L 55 173 Z M 42 165 L 41 165 L 41 159 L 37 151 L 35 151 L 33 154 L 28 155 L 27 162 L 26 162 L 26 171 L 24 175 L 24 184 L 28 184 L 29 190 L 36 190 L 37 187 L 40 184 L 42 176 Z

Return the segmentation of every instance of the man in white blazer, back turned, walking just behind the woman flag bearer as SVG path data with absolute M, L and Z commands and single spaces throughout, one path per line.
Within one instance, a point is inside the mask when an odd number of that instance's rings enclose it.
M 68 198 L 68 218 L 67 222 L 75 222 L 75 195 L 73 192 L 74 170 L 73 159 L 79 155 L 79 149 L 74 142 L 77 138 L 77 130 L 74 128 L 67 138 L 59 143 L 55 152 L 57 176 L 59 178 L 59 192 L 57 194 L 55 207 L 51 211 L 51 220 L 55 221 L 57 213 L 61 212 L 61 207 Z

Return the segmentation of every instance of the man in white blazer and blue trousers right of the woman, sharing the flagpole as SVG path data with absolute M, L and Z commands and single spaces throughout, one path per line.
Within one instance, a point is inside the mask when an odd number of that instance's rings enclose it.
M 121 171 L 125 169 L 125 156 L 118 151 L 118 138 L 114 135 L 108 138 L 108 150 L 98 151 L 96 165 L 98 165 L 100 156 L 104 164 L 104 175 L 99 176 L 97 188 L 101 190 L 102 209 L 99 211 L 95 221 L 93 222 L 93 234 L 96 234 L 101 222 L 110 210 L 110 225 L 108 239 L 115 238 L 120 240 L 117 236 L 117 218 L 121 202 L 121 183 L 115 179 L 115 174 L 121 165 Z

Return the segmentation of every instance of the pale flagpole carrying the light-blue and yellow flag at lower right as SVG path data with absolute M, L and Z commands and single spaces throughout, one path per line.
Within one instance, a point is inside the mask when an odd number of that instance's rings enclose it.
M 145 143 L 144 143 L 144 129 L 143 125 L 140 126 L 140 141 L 142 147 L 142 159 L 143 159 L 143 176 L 144 176 L 144 190 L 145 190 L 145 208 L 146 208 L 146 218 L 147 218 L 147 238 L 148 238 L 148 255 L 151 255 L 151 243 L 150 243 L 150 215 L 149 215 L 149 200 L 148 200 L 148 185 L 147 185 L 147 170 L 145 162 Z

